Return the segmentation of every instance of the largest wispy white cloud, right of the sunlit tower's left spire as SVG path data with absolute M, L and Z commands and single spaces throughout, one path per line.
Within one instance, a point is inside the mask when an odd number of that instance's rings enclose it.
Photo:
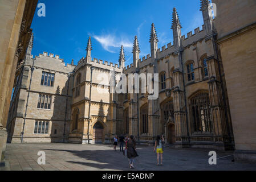
M 92 37 L 96 39 L 106 51 L 111 53 L 115 53 L 114 48 L 121 47 L 122 45 L 125 48 L 132 47 L 132 43 L 126 38 L 117 38 L 117 36 L 112 34 L 92 35 Z

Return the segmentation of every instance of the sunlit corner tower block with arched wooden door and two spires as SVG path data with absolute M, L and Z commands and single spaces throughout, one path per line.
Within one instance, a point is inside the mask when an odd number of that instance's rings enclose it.
M 92 60 L 91 37 L 86 50 L 86 57 L 78 62 L 74 70 L 69 141 L 109 143 L 117 133 L 117 123 L 123 120 L 122 94 L 111 93 L 109 88 L 111 77 L 118 81 L 123 72 L 124 52 L 120 53 L 119 65 L 114 65 Z

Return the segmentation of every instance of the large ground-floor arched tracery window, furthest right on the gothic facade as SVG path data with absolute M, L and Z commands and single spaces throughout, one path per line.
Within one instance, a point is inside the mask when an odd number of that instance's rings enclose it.
M 194 132 L 212 133 L 212 117 L 208 93 L 198 93 L 190 99 L 190 113 Z

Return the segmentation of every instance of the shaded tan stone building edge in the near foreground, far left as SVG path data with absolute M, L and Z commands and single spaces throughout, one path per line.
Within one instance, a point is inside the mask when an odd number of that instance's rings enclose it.
M 11 93 L 26 55 L 37 0 L 0 1 L 0 166 L 5 165 Z

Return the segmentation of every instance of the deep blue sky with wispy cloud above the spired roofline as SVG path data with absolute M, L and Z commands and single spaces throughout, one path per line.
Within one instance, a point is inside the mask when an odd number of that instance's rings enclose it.
M 159 48 L 173 42 L 172 10 L 176 7 L 182 24 L 182 35 L 203 24 L 200 0 L 87 1 L 39 0 L 46 5 L 46 16 L 36 9 L 31 25 L 34 32 L 32 55 L 48 52 L 60 55 L 65 63 L 86 56 L 88 36 L 92 37 L 92 57 L 117 63 L 121 44 L 126 62 L 132 63 L 135 35 L 140 44 L 140 57 L 150 53 L 149 33 L 155 23 Z

